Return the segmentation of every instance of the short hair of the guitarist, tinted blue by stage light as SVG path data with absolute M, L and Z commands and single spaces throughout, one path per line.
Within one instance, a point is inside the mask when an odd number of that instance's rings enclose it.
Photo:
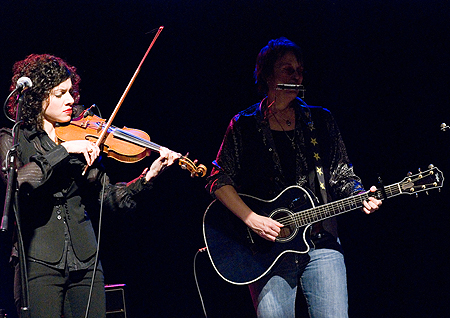
M 267 79 L 273 74 L 273 67 L 278 58 L 282 57 L 287 52 L 294 53 L 298 62 L 303 64 L 303 54 L 300 47 L 285 37 L 270 40 L 259 52 L 256 57 L 254 77 L 258 91 L 261 94 L 267 94 L 269 90 Z

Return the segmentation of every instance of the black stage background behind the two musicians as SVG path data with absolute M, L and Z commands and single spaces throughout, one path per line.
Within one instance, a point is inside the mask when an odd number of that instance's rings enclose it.
M 165 26 L 114 124 L 211 168 L 231 117 L 258 101 L 252 72 L 269 39 L 286 36 L 305 56 L 305 101 L 335 115 L 368 188 L 433 163 L 450 173 L 448 1 L 0 1 L 0 96 L 11 68 L 31 53 L 77 66 L 81 104 L 109 117 Z M 1 116 L 2 126 L 11 126 Z M 107 160 L 113 181 L 140 174 Z M 203 247 L 205 179 L 172 167 L 130 216 L 105 215 L 101 259 L 108 284 L 127 284 L 136 317 L 202 317 L 193 262 Z M 4 187 L 1 188 L 4 193 Z M 3 196 L 4 197 L 4 196 Z M 377 213 L 339 218 L 351 317 L 448 317 L 448 185 L 385 201 Z M 8 234 L 2 234 L 0 308 L 14 317 Z M 209 317 L 254 317 L 245 286 L 198 255 Z

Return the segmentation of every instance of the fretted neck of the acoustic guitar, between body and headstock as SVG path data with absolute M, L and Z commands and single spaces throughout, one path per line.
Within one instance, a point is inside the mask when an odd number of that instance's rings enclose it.
M 380 190 L 377 190 L 379 192 Z M 383 200 L 401 194 L 403 191 L 400 183 L 394 183 L 384 188 L 386 195 L 379 195 L 377 198 Z M 379 193 L 378 193 L 379 194 Z M 343 214 L 349 211 L 363 207 L 363 202 L 369 198 L 369 193 L 364 192 L 355 196 L 320 205 L 311 209 L 303 210 L 294 214 L 295 222 L 298 227 L 316 223 L 333 216 Z

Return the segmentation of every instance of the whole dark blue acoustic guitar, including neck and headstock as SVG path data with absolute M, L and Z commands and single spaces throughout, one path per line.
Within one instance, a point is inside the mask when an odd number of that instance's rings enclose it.
M 252 283 L 267 274 L 283 254 L 307 253 L 306 231 L 311 224 L 359 209 L 369 196 L 384 200 L 441 188 L 444 183 L 442 171 L 433 165 L 428 168 L 375 192 L 359 193 L 318 207 L 315 207 L 316 197 L 298 186 L 284 189 L 272 200 L 240 194 L 254 212 L 284 225 L 275 242 L 261 238 L 215 200 L 203 216 L 203 235 L 211 262 L 224 280 L 236 285 Z

